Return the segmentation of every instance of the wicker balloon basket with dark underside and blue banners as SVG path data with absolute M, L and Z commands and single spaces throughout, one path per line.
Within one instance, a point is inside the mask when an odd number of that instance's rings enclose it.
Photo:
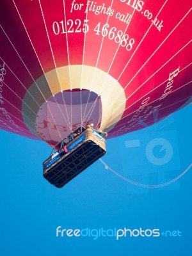
M 106 154 L 106 140 L 94 129 L 86 128 L 67 143 L 68 152 L 58 150 L 55 157 L 44 162 L 44 178 L 62 188 L 88 166 Z

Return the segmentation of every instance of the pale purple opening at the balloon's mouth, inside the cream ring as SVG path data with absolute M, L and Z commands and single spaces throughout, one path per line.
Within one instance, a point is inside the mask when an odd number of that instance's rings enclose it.
M 40 106 L 36 116 L 36 132 L 50 145 L 55 145 L 80 125 L 94 124 L 98 129 L 102 120 L 100 96 L 90 90 L 75 88 L 52 95 Z

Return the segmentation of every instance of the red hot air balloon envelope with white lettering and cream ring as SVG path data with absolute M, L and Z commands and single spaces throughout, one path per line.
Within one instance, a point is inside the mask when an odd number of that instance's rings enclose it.
M 0 128 L 109 138 L 191 101 L 191 0 L 2 0 Z

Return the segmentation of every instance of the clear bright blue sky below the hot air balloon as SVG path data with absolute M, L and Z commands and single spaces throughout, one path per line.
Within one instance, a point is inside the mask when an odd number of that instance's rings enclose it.
M 174 179 L 191 164 L 191 112 L 188 106 L 152 127 L 108 140 L 102 159 L 143 184 Z M 42 141 L 1 131 L 1 255 L 192 255 L 192 170 L 170 186 L 148 189 L 125 182 L 97 161 L 57 189 L 42 177 L 42 162 L 50 153 Z M 56 237 L 58 226 L 158 228 L 175 230 L 177 236 L 120 237 L 118 241 L 116 237 Z

